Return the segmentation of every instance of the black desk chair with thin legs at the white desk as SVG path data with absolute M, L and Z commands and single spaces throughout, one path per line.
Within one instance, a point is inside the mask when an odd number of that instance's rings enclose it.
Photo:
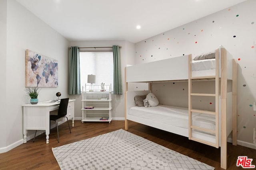
M 69 100 L 69 98 L 61 99 L 60 100 L 60 106 L 58 108 L 58 115 L 50 115 L 50 121 L 55 121 L 56 122 L 57 133 L 58 133 L 58 143 L 60 143 L 60 140 L 59 140 L 59 129 L 58 129 L 57 119 L 59 119 L 61 117 L 66 117 L 67 109 L 68 109 L 68 100 Z M 66 118 L 67 118 L 67 121 L 68 121 L 68 117 L 66 117 Z M 51 126 L 51 124 L 50 124 L 50 126 Z M 68 123 L 68 128 L 69 128 L 69 131 L 71 133 L 69 123 Z M 51 127 L 50 127 L 50 129 L 51 129 Z M 34 141 L 35 141 L 35 138 L 36 138 L 36 133 L 35 133 Z

